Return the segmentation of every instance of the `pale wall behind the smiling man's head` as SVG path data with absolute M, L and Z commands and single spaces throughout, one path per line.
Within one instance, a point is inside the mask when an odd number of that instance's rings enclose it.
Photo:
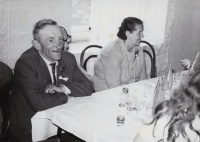
M 65 27 L 70 33 L 72 0 L 2 0 L 9 3 L 4 12 L 9 12 L 9 26 L 6 37 L 9 37 L 9 46 L 6 38 L 3 51 L 0 55 L 11 68 L 16 60 L 31 47 L 33 25 L 43 18 L 51 18 Z M 6 14 L 4 14 L 6 16 Z M 4 18 L 6 20 L 7 17 Z M 1 43 L 1 42 L 0 42 Z M 2 46 L 1 46 L 2 47 Z

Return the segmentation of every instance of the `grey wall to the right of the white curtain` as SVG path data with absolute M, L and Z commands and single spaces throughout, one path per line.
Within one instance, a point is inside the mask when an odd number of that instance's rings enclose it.
M 194 60 L 200 52 L 199 17 L 199 0 L 176 0 L 169 44 L 169 62 L 176 70 L 183 70 L 181 59 Z

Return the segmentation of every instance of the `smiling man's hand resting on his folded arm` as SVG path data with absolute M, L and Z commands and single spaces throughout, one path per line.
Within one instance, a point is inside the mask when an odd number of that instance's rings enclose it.
M 54 93 L 54 92 L 64 93 L 65 91 L 66 87 L 62 84 L 60 84 L 60 86 L 49 84 L 46 86 L 44 90 L 45 93 Z

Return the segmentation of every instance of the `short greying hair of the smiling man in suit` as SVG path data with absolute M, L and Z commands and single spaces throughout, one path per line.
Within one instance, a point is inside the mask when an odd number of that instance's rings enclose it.
M 38 39 L 39 31 L 44 29 L 44 27 L 46 27 L 47 25 L 57 25 L 57 22 L 52 19 L 42 19 L 38 21 L 37 23 L 35 23 L 35 25 L 33 26 L 33 31 L 32 31 L 34 40 Z

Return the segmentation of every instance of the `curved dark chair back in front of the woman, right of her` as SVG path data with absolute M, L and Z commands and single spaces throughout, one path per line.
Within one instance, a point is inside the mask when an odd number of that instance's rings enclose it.
M 154 78 L 157 77 L 157 68 L 156 68 L 156 53 L 155 50 L 153 48 L 153 46 L 147 42 L 147 41 L 141 41 L 140 43 L 145 43 L 148 45 L 148 47 L 150 47 L 152 54 L 148 51 L 144 49 L 144 52 L 147 53 L 151 59 L 151 72 L 150 72 L 150 77 Z

